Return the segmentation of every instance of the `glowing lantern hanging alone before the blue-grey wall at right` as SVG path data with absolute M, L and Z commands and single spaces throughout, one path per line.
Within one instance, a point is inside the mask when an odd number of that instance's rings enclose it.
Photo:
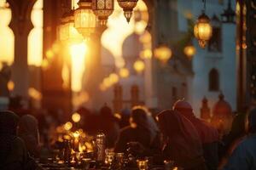
M 195 37 L 198 39 L 198 43 L 201 48 L 207 46 L 207 42 L 212 37 L 212 26 L 210 24 L 210 19 L 205 13 L 202 13 L 194 26 Z

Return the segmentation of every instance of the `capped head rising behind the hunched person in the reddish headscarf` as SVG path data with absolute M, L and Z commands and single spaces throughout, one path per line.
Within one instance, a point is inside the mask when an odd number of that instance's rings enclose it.
M 189 102 L 184 100 L 177 100 L 177 102 L 175 102 L 175 104 L 173 105 L 172 109 L 174 111 L 180 112 L 181 114 L 183 114 L 183 116 L 186 116 L 187 118 L 194 116 L 192 106 L 189 104 Z

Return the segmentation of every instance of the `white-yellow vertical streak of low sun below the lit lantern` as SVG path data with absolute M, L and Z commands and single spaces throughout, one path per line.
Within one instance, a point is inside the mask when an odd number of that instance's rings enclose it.
M 82 81 L 84 75 L 85 54 L 88 48 L 85 42 L 73 44 L 70 46 L 71 62 L 72 62 L 72 83 L 73 92 L 79 92 L 82 89 Z

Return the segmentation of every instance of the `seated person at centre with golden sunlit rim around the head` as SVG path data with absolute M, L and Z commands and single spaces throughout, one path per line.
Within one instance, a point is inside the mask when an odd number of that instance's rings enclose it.
M 133 145 L 131 150 L 138 147 L 136 154 L 139 156 L 153 156 L 160 151 L 160 131 L 146 108 L 134 107 L 130 124 L 121 129 L 115 146 L 116 152 L 125 152 L 130 147 L 129 144 Z

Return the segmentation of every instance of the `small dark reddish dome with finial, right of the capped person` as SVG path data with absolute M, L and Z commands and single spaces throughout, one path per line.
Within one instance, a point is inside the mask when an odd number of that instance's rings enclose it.
M 232 116 L 231 106 L 227 101 L 224 100 L 224 94 L 219 94 L 218 102 L 213 106 L 212 114 L 216 117 Z

